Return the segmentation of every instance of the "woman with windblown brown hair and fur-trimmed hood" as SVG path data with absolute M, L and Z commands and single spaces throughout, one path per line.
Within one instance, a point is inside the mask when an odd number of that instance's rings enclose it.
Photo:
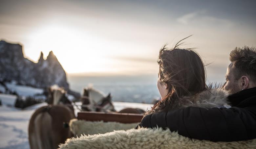
M 165 45 L 159 52 L 157 87 L 161 100 L 145 115 L 188 106 L 230 107 L 226 101 L 228 93 L 207 87 L 202 58 L 192 49 L 180 49 L 181 41 L 172 49 Z

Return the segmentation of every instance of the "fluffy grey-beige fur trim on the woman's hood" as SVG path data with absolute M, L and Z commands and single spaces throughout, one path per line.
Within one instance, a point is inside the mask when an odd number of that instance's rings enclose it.
M 220 88 L 208 88 L 198 94 L 189 97 L 180 97 L 179 100 L 172 101 L 172 105 L 168 110 L 183 109 L 186 107 L 200 108 L 230 108 L 227 97 L 228 91 Z M 160 112 L 160 107 L 156 106 L 154 110 L 148 111 L 146 114 Z

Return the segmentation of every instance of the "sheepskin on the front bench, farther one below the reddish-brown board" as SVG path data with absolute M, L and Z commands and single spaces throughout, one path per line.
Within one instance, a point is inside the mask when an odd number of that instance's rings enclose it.
M 117 122 L 91 122 L 85 120 L 72 119 L 69 122 L 70 130 L 75 136 L 83 135 L 94 135 L 94 134 L 104 134 L 114 130 L 128 130 L 135 128 L 139 123 L 117 123 Z

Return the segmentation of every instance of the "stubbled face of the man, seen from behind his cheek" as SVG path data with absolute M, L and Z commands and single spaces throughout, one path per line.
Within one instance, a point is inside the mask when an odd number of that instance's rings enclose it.
M 230 63 L 229 66 L 227 67 L 227 72 L 226 72 L 226 82 L 224 84 L 224 90 L 230 91 L 231 94 L 235 94 L 241 89 L 239 88 L 239 83 L 238 80 L 236 80 L 235 75 L 234 75 L 234 67 L 233 63 Z

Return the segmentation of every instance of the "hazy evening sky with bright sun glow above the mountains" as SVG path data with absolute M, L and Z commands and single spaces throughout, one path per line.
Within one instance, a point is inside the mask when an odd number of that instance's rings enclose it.
M 37 62 L 57 56 L 68 74 L 154 75 L 160 48 L 196 48 L 210 82 L 224 81 L 229 52 L 256 45 L 256 1 L 0 0 L 0 39 Z

